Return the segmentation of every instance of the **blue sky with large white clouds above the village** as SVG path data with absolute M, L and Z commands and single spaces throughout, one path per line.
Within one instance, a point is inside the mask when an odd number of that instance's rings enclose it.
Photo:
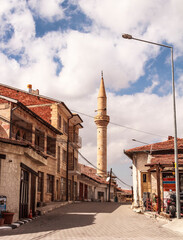
M 183 137 L 181 0 L 0 0 L 0 6 L 0 82 L 23 90 L 32 84 L 82 113 L 80 151 L 94 165 L 96 125 L 86 115 L 96 115 L 101 71 L 110 116 L 108 170 L 132 185 L 124 149 L 143 145 L 132 139 L 153 143 L 174 135 L 170 49 L 123 39 L 123 33 L 173 46 Z

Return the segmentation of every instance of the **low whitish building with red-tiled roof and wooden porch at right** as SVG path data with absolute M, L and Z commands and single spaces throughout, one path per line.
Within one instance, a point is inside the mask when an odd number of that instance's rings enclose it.
M 183 139 L 178 138 L 180 191 L 183 192 Z M 175 192 L 174 138 L 153 143 L 124 153 L 132 160 L 133 206 L 146 207 L 147 199 L 158 212 L 166 208 L 166 200 Z M 157 204 L 158 203 L 158 204 Z

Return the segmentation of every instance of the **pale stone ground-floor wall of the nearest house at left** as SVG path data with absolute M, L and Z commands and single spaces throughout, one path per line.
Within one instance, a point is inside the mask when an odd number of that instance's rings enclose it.
M 0 153 L 6 155 L 6 159 L 0 159 L 0 193 L 7 197 L 7 210 L 15 213 L 14 221 L 16 221 L 19 218 L 20 163 L 24 163 L 36 172 L 39 160 L 39 164 L 43 164 L 44 160 L 32 149 L 7 143 L 0 144 Z M 27 155 L 25 153 L 27 153 Z M 29 158 L 28 156 L 31 157 Z M 37 163 L 33 161 L 33 159 L 36 159 Z M 31 181 L 29 181 L 29 184 L 31 184 Z M 37 184 L 35 188 L 37 191 Z M 29 210 L 30 189 L 29 187 Z M 37 199 L 35 200 L 37 202 Z

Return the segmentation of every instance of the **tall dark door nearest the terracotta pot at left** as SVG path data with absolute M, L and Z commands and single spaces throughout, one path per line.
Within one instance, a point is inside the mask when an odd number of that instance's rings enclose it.
M 21 169 L 19 218 L 28 217 L 28 202 L 29 202 L 29 173 L 26 170 Z

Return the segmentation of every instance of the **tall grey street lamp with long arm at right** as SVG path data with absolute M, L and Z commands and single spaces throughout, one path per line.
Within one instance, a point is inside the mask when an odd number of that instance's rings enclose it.
M 134 38 L 130 34 L 122 34 L 125 39 L 133 39 L 140 42 L 145 42 L 160 47 L 171 49 L 171 64 L 172 64 L 172 96 L 173 96 L 173 117 L 174 117 L 174 157 L 175 157 L 175 183 L 176 183 L 176 209 L 177 218 L 180 219 L 180 192 L 179 192 L 179 166 L 178 166 L 178 151 L 177 151 L 177 121 L 176 121 L 176 104 L 175 104 L 175 82 L 174 82 L 174 63 L 173 63 L 173 47 L 169 45 L 159 44 L 155 42 L 146 41 L 139 38 Z

